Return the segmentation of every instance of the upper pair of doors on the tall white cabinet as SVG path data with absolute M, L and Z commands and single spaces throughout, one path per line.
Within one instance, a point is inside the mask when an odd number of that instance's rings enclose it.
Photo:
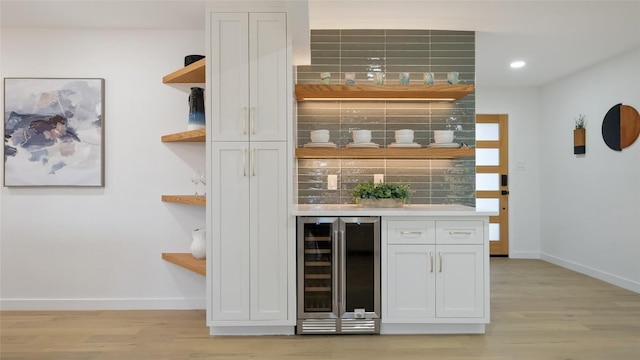
M 212 141 L 286 141 L 286 13 L 211 13 Z

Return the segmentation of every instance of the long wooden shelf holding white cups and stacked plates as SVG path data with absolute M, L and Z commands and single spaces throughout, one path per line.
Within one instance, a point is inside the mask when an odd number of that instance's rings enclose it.
M 475 156 L 475 149 L 433 148 L 360 148 L 326 149 L 297 148 L 298 159 L 457 159 Z

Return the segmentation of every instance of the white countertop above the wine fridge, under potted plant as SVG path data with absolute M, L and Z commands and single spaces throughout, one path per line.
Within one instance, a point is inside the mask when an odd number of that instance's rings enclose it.
M 355 204 L 298 204 L 295 216 L 495 216 L 495 211 L 464 205 L 409 204 L 401 208 L 364 208 Z

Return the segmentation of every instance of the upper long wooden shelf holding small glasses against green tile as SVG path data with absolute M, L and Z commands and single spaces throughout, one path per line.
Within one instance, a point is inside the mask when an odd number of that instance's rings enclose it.
M 323 85 L 296 84 L 296 99 L 453 101 L 475 91 L 474 85 Z

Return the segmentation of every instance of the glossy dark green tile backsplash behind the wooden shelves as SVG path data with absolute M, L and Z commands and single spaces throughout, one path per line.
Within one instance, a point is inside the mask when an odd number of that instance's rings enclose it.
M 423 73 L 434 73 L 435 83 L 446 83 L 447 72 L 460 73 L 460 83 L 475 79 L 475 33 L 436 30 L 312 30 L 311 65 L 299 66 L 297 82 L 317 84 L 320 72 L 331 73 L 331 83 L 344 82 L 345 72 L 356 73 L 356 83 L 372 83 L 373 73 L 385 74 L 385 84 L 399 84 L 401 72 L 412 84 Z M 381 147 L 394 142 L 394 131 L 413 129 L 414 141 L 433 141 L 433 131 L 456 128 L 455 141 L 475 145 L 475 95 L 450 102 L 420 101 L 305 101 L 298 103 L 298 146 L 310 141 L 309 132 L 329 129 L 332 142 L 344 147 L 351 131 L 372 130 Z M 298 203 L 346 204 L 358 181 L 384 174 L 385 182 L 409 184 L 414 204 L 475 206 L 475 161 L 300 159 Z M 327 175 L 338 175 L 338 190 L 327 190 Z

